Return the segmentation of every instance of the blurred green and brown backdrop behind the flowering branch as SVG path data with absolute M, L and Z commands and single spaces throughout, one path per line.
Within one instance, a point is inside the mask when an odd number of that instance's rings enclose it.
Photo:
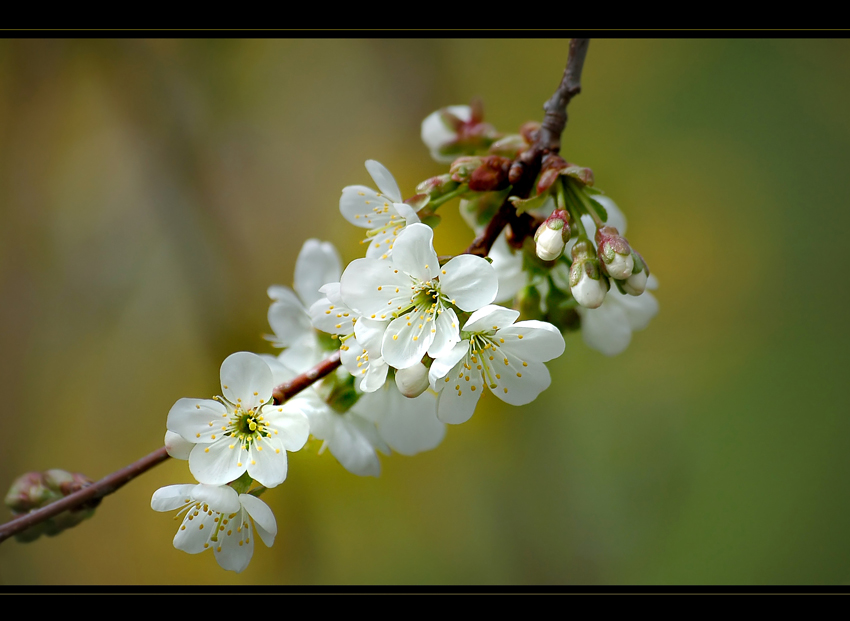
M 0 489 L 161 446 L 228 354 L 272 351 L 265 291 L 305 239 L 361 256 L 338 201 L 366 159 L 412 194 L 444 170 L 428 113 L 480 96 L 516 131 L 567 47 L 0 41 Z M 291 454 L 242 574 L 172 547 L 149 505 L 192 482 L 170 460 L 0 545 L 0 584 L 846 584 L 848 99 L 847 41 L 593 40 L 562 153 L 661 283 L 625 353 L 569 335 L 536 402 L 488 394 L 378 479 Z M 470 240 L 455 213 L 437 251 Z

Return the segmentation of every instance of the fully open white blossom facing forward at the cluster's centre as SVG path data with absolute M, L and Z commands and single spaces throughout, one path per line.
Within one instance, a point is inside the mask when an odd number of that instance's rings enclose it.
M 412 224 L 399 235 L 391 260 L 357 259 L 340 280 L 348 307 L 387 322 L 381 356 L 397 369 L 451 348 L 460 339 L 452 306 L 477 310 L 498 289 L 495 271 L 480 257 L 460 255 L 441 267 L 433 239 L 430 227 Z

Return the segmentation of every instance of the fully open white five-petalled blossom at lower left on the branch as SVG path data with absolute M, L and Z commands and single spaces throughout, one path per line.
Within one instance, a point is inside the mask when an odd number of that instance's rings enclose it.
M 307 441 L 309 424 L 291 402 L 274 405 L 271 369 L 238 352 L 221 365 L 222 397 L 180 399 L 168 413 L 169 431 L 195 446 L 189 470 L 201 483 L 223 485 L 248 472 L 266 487 L 286 478 L 286 451 Z

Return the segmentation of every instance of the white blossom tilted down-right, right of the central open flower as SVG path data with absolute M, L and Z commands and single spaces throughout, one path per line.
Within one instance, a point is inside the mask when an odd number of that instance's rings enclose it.
M 429 379 L 440 394 L 440 420 L 469 420 L 485 386 L 511 405 L 531 403 L 549 387 L 543 363 L 564 352 L 564 337 L 550 323 L 514 323 L 518 317 L 512 309 L 485 306 L 464 325 L 464 340 L 434 360 Z

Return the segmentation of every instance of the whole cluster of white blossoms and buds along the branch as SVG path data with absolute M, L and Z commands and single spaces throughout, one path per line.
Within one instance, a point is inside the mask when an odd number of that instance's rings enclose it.
M 422 123 L 448 174 L 405 199 L 369 160 L 377 189 L 343 188 L 340 213 L 365 229 L 365 256 L 343 268 L 331 243 L 307 240 L 293 287 L 268 289 L 268 339 L 281 351 L 228 356 L 219 396 L 183 398 L 168 413 L 168 452 L 197 481 L 151 500 L 183 516 L 175 547 L 212 548 L 222 567 L 242 571 L 255 531 L 274 541 L 277 524 L 259 496 L 285 481 L 287 452 L 318 445 L 349 472 L 378 476 L 379 454 L 436 448 L 446 424 L 468 421 L 485 392 L 534 401 L 551 383 L 545 363 L 564 352 L 564 332 L 580 326 L 588 345 L 613 355 L 647 325 L 657 303 L 644 291 L 655 278 L 589 169 L 550 157 L 530 196 L 511 195 L 507 171 L 532 130 L 502 136 L 480 108 L 451 106 Z M 454 198 L 476 234 L 505 205 L 536 232 L 508 224 L 483 253 L 440 256 L 436 210 Z M 276 392 L 337 352 L 335 370 L 295 396 Z

